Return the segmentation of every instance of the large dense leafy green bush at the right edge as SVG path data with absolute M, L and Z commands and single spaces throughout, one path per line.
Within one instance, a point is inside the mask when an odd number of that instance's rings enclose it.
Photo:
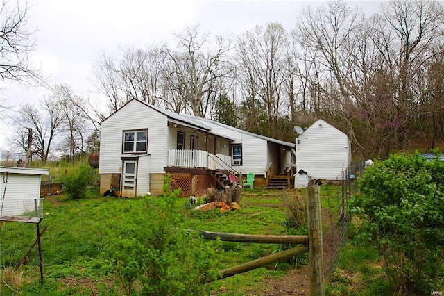
M 394 155 L 366 169 L 352 213 L 359 238 L 375 246 L 393 295 L 441 287 L 444 261 L 444 163 L 420 154 Z

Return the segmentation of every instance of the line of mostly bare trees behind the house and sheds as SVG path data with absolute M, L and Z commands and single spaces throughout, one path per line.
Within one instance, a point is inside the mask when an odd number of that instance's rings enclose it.
M 24 128 L 35 126 L 41 133 L 35 151 L 44 159 L 45 141 L 63 131 L 60 147 L 72 157 L 87 150 L 89 122 L 94 149 L 101 120 L 130 99 L 289 142 L 296 138 L 293 126 L 323 118 L 347 133 L 354 155 L 363 158 L 418 143 L 429 151 L 444 142 L 444 8 L 438 1 L 384 1 L 373 15 L 332 1 L 303 8 L 294 28 L 274 22 L 237 36 L 191 26 L 170 42 L 103 54 L 94 69 L 105 109 L 58 85 L 42 100 L 46 115 L 22 108 L 16 144 L 25 149 Z

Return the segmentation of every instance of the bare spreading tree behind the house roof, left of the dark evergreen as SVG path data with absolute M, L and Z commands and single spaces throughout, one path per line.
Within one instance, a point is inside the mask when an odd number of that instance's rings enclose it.
M 177 33 L 176 42 L 176 49 L 164 45 L 170 89 L 181 94 L 194 115 L 205 117 L 218 97 L 212 94 L 220 89 L 219 79 L 232 72 L 228 56 L 231 44 L 223 36 L 216 36 L 212 42 L 209 34 L 199 32 L 198 26 Z

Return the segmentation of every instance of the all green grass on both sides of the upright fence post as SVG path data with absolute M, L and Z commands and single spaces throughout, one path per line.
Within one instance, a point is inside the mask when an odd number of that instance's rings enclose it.
M 322 186 L 323 206 L 338 208 L 336 187 Z M 241 210 L 230 213 L 200 212 L 189 207 L 187 199 L 178 201 L 185 228 L 198 231 L 218 231 L 247 234 L 287 234 L 284 221 L 287 211 L 282 206 L 283 191 L 261 188 L 245 190 L 241 195 Z M 33 244 L 35 225 L 5 222 L 1 228 L 1 277 L 11 288 L 0 284 L 0 295 L 121 295 L 115 266 L 110 261 L 112 250 L 108 242 L 123 224 L 144 227 L 142 197 L 123 199 L 101 197 L 91 190 L 87 199 L 71 200 L 66 195 L 53 195 L 44 200 L 44 219 L 40 229 L 48 227 L 42 236 L 44 285 L 39 283 L 37 247 L 29 262 L 17 272 L 10 272 Z M 203 202 L 202 199 L 199 201 Z M 300 229 L 304 231 L 304 229 Z M 343 250 L 339 267 L 327 285 L 329 295 L 386 295 L 382 286 L 384 274 L 377 252 L 353 241 L 356 227 L 350 229 L 351 241 Z M 291 233 L 291 234 L 302 234 Z M 208 241 L 208 243 L 213 243 Z M 220 242 L 218 256 L 221 269 L 278 252 L 280 245 Z M 300 258 L 298 266 L 307 262 Z M 280 263 L 276 270 L 258 268 L 235 277 L 210 283 L 212 295 L 244 295 L 264 289 L 266 279 L 288 274 L 291 265 Z

